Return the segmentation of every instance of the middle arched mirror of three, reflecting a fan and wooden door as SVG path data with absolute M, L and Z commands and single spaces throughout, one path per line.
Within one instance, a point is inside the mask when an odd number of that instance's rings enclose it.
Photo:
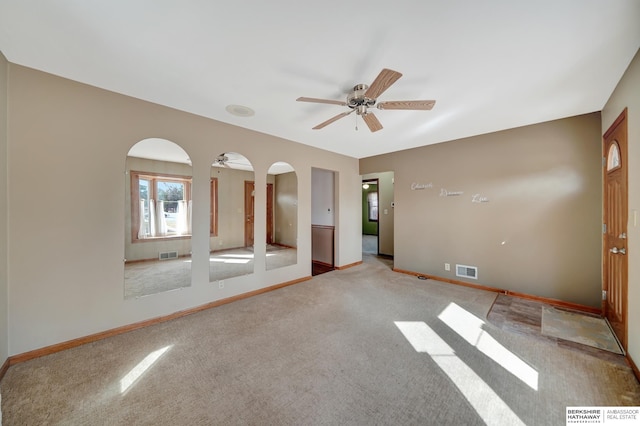
M 251 162 L 237 152 L 211 166 L 210 282 L 253 273 L 254 179 Z

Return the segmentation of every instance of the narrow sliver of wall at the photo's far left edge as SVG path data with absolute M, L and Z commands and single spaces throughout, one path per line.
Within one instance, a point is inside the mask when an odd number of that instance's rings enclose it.
M 7 79 L 8 66 L 0 52 L 0 364 L 9 354 L 7 271 Z

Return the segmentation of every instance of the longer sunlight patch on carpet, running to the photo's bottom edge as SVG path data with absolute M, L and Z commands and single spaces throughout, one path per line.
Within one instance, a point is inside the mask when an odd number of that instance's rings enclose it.
M 524 426 L 522 420 L 494 390 L 458 358 L 453 348 L 425 322 L 395 321 L 395 325 L 416 352 L 431 356 L 487 425 Z

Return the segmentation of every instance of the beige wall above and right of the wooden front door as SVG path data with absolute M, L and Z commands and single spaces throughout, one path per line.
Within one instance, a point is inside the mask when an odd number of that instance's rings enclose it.
M 628 261 L 628 353 L 640 365 L 640 53 L 627 68 L 613 94 L 602 110 L 602 133 L 627 108 L 629 143 L 629 223 Z M 637 220 L 634 221 L 634 217 Z

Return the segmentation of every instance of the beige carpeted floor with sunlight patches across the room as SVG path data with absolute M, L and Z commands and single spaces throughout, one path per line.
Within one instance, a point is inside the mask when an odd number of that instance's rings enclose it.
M 628 367 L 487 322 L 495 294 L 364 260 L 12 366 L 3 424 L 555 425 L 640 405 Z

